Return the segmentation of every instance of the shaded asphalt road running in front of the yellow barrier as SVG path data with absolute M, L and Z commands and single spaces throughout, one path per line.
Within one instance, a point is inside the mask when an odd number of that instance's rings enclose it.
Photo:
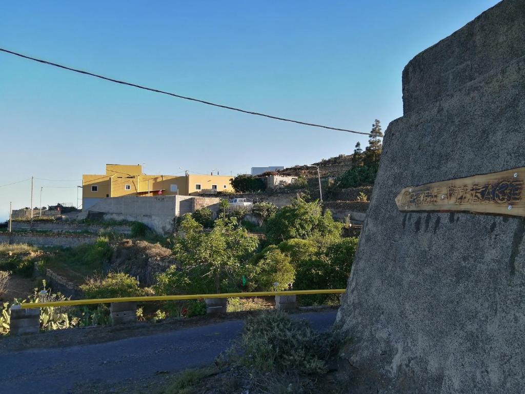
M 293 317 L 328 330 L 334 310 Z M 69 394 L 78 385 L 119 383 L 130 375 L 153 377 L 209 365 L 243 328 L 243 320 L 175 330 L 170 333 L 66 348 L 0 352 L 2 394 Z

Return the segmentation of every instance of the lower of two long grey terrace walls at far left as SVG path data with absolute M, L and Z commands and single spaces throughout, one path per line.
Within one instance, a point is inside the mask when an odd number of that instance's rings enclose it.
M 97 235 L 74 234 L 38 234 L 38 233 L 0 233 L 0 243 L 30 244 L 35 246 L 75 247 L 82 244 L 92 244 Z

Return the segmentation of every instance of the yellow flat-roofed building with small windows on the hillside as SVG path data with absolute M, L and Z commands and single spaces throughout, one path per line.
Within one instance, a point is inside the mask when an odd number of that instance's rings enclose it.
M 82 209 L 99 200 L 123 195 L 198 195 L 233 191 L 230 180 L 222 175 L 189 174 L 146 175 L 142 165 L 106 164 L 106 174 L 82 175 Z

